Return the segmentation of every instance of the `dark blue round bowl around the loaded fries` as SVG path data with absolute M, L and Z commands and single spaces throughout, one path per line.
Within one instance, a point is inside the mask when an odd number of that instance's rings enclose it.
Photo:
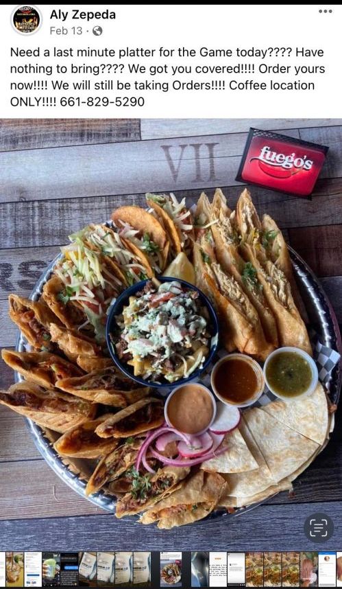
M 196 288 L 196 286 L 193 286 L 193 284 L 190 284 L 189 282 L 186 282 L 185 280 L 179 280 L 179 279 L 175 279 L 175 278 L 171 278 L 171 277 L 160 276 L 160 277 L 158 277 L 158 280 L 160 282 L 172 282 L 173 280 L 177 280 L 178 282 L 180 282 L 180 284 L 182 284 L 182 286 L 188 288 L 189 290 L 197 290 L 197 292 L 199 294 L 199 300 L 201 301 L 202 305 L 204 305 L 204 307 L 207 308 L 208 314 L 209 314 L 208 329 L 210 331 L 211 338 L 210 338 L 210 350 L 209 350 L 208 356 L 204 362 L 204 365 L 201 368 L 195 370 L 193 373 L 191 373 L 191 375 L 188 378 L 180 378 L 179 380 L 176 380 L 175 382 L 167 382 L 167 380 L 164 380 L 164 381 L 156 383 L 151 380 L 147 380 L 147 379 L 144 380 L 143 378 L 139 378 L 138 376 L 134 376 L 133 367 L 127 365 L 125 362 L 122 362 L 119 359 L 119 356 L 117 355 L 117 352 L 115 350 L 114 343 L 113 343 L 112 337 L 111 337 L 113 335 L 115 336 L 115 334 L 117 334 L 117 332 L 119 331 L 116 317 L 121 315 L 121 313 L 123 312 L 123 308 L 129 304 L 130 297 L 133 297 L 134 295 L 136 295 L 136 292 L 143 290 L 143 288 L 144 288 L 145 284 L 148 282 L 148 280 L 142 280 L 141 282 L 137 282 L 133 286 L 130 286 L 130 288 L 126 288 L 126 290 L 124 290 L 121 293 L 121 295 L 117 298 L 115 303 L 110 307 L 110 311 L 109 311 L 108 319 L 107 319 L 107 325 L 106 325 L 106 340 L 107 340 L 107 345 L 108 345 L 108 349 L 110 351 L 110 356 L 112 357 L 112 360 L 114 360 L 117 367 L 119 367 L 119 369 L 126 376 L 129 376 L 130 378 L 132 378 L 133 380 L 135 380 L 139 384 L 143 384 L 145 386 L 154 386 L 156 389 L 160 389 L 160 388 L 173 389 L 175 386 L 180 386 L 180 384 L 184 384 L 185 382 L 189 382 L 190 380 L 194 380 L 195 378 L 198 378 L 201 375 L 201 373 L 206 369 L 206 367 L 210 364 L 212 358 L 215 356 L 215 352 L 217 351 L 217 344 L 218 344 L 218 340 L 219 340 L 219 323 L 217 321 L 217 315 L 215 313 L 215 310 L 212 308 L 212 304 L 210 303 L 210 301 L 208 301 L 207 297 L 203 294 L 203 292 L 201 292 L 201 290 L 199 290 L 199 288 Z

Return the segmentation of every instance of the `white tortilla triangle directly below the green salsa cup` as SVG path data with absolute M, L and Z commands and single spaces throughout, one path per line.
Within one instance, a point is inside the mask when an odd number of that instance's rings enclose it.
M 310 438 L 321 446 L 326 439 L 328 429 L 328 403 L 323 386 L 319 382 L 312 395 L 281 400 L 262 407 L 268 415 L 275 417 L 285 426 Z

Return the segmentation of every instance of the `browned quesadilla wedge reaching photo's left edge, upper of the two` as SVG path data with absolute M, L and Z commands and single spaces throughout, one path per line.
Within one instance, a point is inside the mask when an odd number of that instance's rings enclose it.
M 48 351 L 1 350 L 3 361 L 25 380 L 32 380 L 41 386 L 56 386 L 59 378 L 80 377 L 83 371 L 60 356 Z

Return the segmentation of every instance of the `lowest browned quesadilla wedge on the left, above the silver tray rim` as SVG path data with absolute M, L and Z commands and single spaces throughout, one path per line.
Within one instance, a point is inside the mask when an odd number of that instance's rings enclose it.
M 97 426 L 109 416 L 107 413 L 71 428 L 58 438 L 53 448 L 58 454 L 71 458 L 96 459 L 112 452 L 117 448 L 119 441 L 112 438 L 100 438 L 95 434 Z

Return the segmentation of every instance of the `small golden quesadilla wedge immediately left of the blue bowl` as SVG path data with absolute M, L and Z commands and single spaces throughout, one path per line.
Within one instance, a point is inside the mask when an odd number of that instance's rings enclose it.
M 101 348 L 94 338 L 81 334 L 78 330 L 71 330 L 64 325 L 51 323 L 51 341 L 58 343 L 58 347 L 71 362 L 77 363 L 78 356 L 101 356 Z

